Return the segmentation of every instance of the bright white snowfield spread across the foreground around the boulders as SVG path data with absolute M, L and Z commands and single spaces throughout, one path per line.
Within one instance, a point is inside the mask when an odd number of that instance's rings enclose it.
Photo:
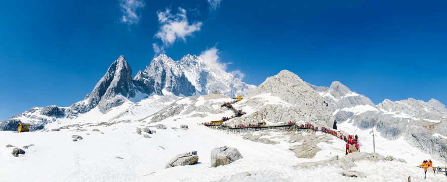
M 283 131 L 272 130 L 270 137 L 279 141 L 277 145 L 263 144 L 242 139 L 243 134 L 207 128 L 197 123 L 221 118 L 225 114 L 210 114 L 204 118 L 178 117 L 167 118 L 158 123 L 148 123 L 144 119 L 156 112 L 158 106 L 151 101 L 147 103 L 126 103 L 127 108 L 114 108 L 106 115 L 99 111 L 89 112 L 75 120 L 67 120 L 47 125 L 47 129 L 58 128 L 68 124 L 85 124 L 100 122 L 118 122 L 112 125 L 81 126 L 62 129 L 60 131 L 35 131 L 16 133 L 0 131 L 0 181 L 447 181 L 442 174 L 427 172 L 424 180 L 422 169 L 414 167 L 423 160 L 430 159 L 419 149 L 411 147 L 403 139 L 388 141 L 375 132 L 376 152 L 403 158 L 407 164 L 397 161 L 359 161 L 352 170 L 363 172 L 365 178 L 342 176 L 343 171 L 336 166 L 320 166 L 311 169 L 297 169 L 294 166 L 303 162 L 320 161 L 333 156 L 344 156 L 344 142 L 331 136 L 333 144 L 319 143 L 322 150 L 311 159 L 297 158 L 289 148 L 300 143 L 288 143 Z M 180 101 L 185 104 L 188 101 Z M 204 102 L 198 99 L 197 103 Z M 279 101 L 280 102 L 280 101 Z M 160 106 L 161 107 L 161 106 Z M 129 112 L 127 112 L 129 111 Z M 174 120 L 175 119 L 175 120 Z M 138 121 L 141 120 L 141 121 Z M 156 129 L 151 138 L 136 133 L 136 128 L 144 128 L 155 124 L 165 124 L 167 129 Z M 189 129 L 180 128 L 186 124 Z M 100 131 L 92 131 L 94 128 Z M 360 130 L 344 122 L 338 125 L 348 133 L 358 134 L 361 143 L 360 151 L 372 152 L 373 140 L 371 129 Z M 103 134 L 101 133 L 103 132 Z M 84 140 L 72 142 L 73 134 L 81 135 Z M 147 134 L 147 133 L 146 133 Z M 316 132 L 315 137 L 325 133 Z M 441 135 L 440 135 L 441 136 Z M 441 136 L 442 137 L 442 136 Z M 441 138 L 440 138 L 441 139 Z M 26 154 L 14 157 L 13 148 L 34 144 L 24 149 Z M 216 147 L 235 147 L 243 159 L 229 165 L 210 167 L 210 153 Z M 22 148 L 23 149 L 23 148 Z M 180 153 L 197 151 L 198 164 L 176 166 L 165 169 L 166 163 Z M 123 159 L 120 159 L 120 158 Z M 437 161 L 435 166 L 440 164 Z M 239 172 L 250 172 L 251 176 L 231 179 L 231 175 Z M 25 175 L 22 175 L 25 173 Z M 18 178 L 17 176 L 21 176 Z

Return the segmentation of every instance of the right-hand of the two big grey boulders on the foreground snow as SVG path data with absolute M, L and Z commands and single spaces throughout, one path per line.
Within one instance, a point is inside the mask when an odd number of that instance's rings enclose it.
M 227 165 L 242 158 L 242 155 L 240 155 L 236 148 L 229 148 L 227 146 L 214 148 L 211 151 L 211 167 Z

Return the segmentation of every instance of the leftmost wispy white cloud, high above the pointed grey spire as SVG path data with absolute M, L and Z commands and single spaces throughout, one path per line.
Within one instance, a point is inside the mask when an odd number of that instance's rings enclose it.
M 140 21 L 137 11 L 144 6 L 145 4 L 142 0 L 120 0 L 119 7 L 121 8 L 121 12 L 123 12 L 121 22 L 128 25 L 137 24 Z

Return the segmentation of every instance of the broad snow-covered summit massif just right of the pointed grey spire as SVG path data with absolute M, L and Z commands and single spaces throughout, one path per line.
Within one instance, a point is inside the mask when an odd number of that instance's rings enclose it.
M 186 55 L 180 61 L 174 61 L 164 54 L 154 58 L 144 71 L 139 71 L 134 83 L 141 93 L 164 95 L 162 90 L 165 90 L 187 97 L 214 91 L 230 97 L 245 96 L 256 87 L 210 67 L 201 57 Z

